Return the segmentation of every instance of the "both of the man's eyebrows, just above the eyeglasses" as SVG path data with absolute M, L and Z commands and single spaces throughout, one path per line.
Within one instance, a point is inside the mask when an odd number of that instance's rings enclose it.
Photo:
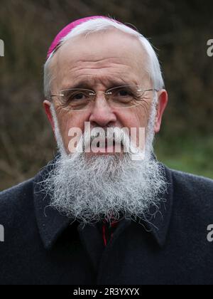
M 126 81 L 123 79 L 113 79 L 113 80 L 107 80 L 107 83 L 105 84 L 107 89 L 110 88 L 114 88 L 116 86 L 123 86 L 123 85 L 134 85 L 134 83 L 131 83 L 130 81 Z M 75 83 L 74 85 L 68 85 L 65 88 L 62 88 L 62 90 L 65 89 L 71 89 L 71 88 L 77 88 L 77 89 L 81 89 L 81 88 L 85 88 L 85 89 L 94 89 L 94 83 L 89 82 L 87 80 L 82 80 L 78 83 Z

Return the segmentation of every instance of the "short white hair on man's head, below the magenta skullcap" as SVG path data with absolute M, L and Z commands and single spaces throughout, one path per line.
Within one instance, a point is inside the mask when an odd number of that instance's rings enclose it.
M 107 31 L 110 28 L 117 28 L 124 33 L 128 33 L 131 36 L 136 36 L 138 41 L 141 42 L 143 49 L 146 51 L 148 55 L 148 73 L 150 75 L 151 81 L 153 83 L 153 88 L 155 90 L 161 90 L 164 88 L 163 75 L 160 69 L 160 63 L 158 61 L 158 57 L 153 49 L 153 46 L 145 38 L 141 33 L 136 30 L 133 30 L 129 26 L 126 26 L 122 23 L 118 23 L 114 19 L 107 18 L 99 18 L 99 19 L 91 19 L 89 21 L 85 21 L 80 25 L 76 26 L 70 33 L 67 34 L 64 38 L 61 39 L 60 45 L 50 54 L 48 60 L 44 65 L 44 94 L 45 98 L 50 99 L 50 89 L 51 83 L 53 80 L 53 74 L 50 72 L 50 62 L 55 54 L 55 52 L 60 48 L 66 41 L 74 38 L 76 36 L 84 35 L 87 36 L 91 33 L 96 33 L 98 31 Z M 141 61 L 142 65 L 142 61 Z

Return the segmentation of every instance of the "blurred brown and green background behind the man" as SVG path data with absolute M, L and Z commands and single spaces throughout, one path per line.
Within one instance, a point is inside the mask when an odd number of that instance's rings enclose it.
M 169 167 L 213 178 L 213 2 L 198 0 L 1 0 L 0 190 L 33 177 L 55 154 L 42 109 L 43 63 L 50 42 L 70 21 L 103 14 L 150 38 L 170 102 L 156 137 Z

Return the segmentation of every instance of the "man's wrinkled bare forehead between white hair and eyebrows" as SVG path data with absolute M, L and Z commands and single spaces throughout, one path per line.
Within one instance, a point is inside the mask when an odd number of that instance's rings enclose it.
M 116 70 L 119 70 L 119 65 L 123 65 L 126 70 L 128 68 L 129 72 L 132 70 L 138 75 L 148 73 L 148 55 L 142 43 L 136 36 L 116 28 L 70 38 L 51 60 L 58 76 L 76 70 L 80 65 L 103 69 L 111 65 Z

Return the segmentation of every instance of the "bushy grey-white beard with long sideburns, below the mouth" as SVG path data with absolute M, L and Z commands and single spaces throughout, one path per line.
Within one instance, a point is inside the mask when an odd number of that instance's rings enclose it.
M 121 215 L 134 221 L 146 219 L 151 206 L 158 209 L 167 183 L 162 167 L 152 156 L 154 106 L 143 161 L 132 161 L 129 153 L 89 157 L 84 152 L 67 154 L 53 106 L 52 113 L 60 157 L 43 182 L 50 194 L 50 206 L 84 224 L 117 221 Z

